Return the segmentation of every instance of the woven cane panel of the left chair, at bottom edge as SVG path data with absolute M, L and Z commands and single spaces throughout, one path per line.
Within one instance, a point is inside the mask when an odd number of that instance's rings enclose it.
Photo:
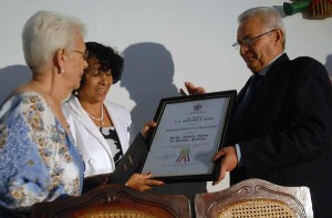
M 155 216 L 136 210 L 103 210 L 93 211 L 80 216 L 79 218 L 157 218 Z

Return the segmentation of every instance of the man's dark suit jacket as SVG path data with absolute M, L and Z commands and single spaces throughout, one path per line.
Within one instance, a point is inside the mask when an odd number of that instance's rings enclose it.
M 234 117 L 228 144 L 239 144 L 242 162 L 230 183 L 255 177 L 308 186 L 315 217 L 332 216 L 332 87 L 324 66 L 282 54 L 260 81 L 245 118 Z

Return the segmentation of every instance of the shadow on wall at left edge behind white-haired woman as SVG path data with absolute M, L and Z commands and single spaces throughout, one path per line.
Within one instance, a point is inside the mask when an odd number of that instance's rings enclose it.
M 0 69 L 0 104 L 18 86 L 31 80 L 31 71 L 27 65 L 11 65 Z

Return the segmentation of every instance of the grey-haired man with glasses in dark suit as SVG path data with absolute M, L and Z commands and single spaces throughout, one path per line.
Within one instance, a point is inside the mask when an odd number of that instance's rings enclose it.
M 219 183 L 261 178 L 282 186 L 308 186 L 314 217 L 332 216 L 332 90 L 318 61 L 289 60 L 284 27 L 272 8 L 239 15 L 235 48 L 252 75 L 239 92 L 231 116 Z M 191 94 L 203 87 L 185 84 Z

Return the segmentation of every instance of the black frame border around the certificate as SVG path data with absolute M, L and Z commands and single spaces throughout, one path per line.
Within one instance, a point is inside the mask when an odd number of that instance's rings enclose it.
M 227 134 L 227 128 L 228 128 L 228 122 L 230 117 L 230 113 L 232 111 L 232 106 L 235 104 L 235 98 L 237 96 L 237 91 L 236 90 L 230 90 L 230 91 L 222 91 L 222 92 L 211 92 L 211 93 L 206 93 L 206 94 L 199 94 L 199 95 L 186 95 L 186 96 L 176 96 L 176 97 L 166 97 L 162 98 L 158 105 L 158 108 L 156 111 L 154 121 L 157 123 L 157 126 L 155 128 L 151 129 L 149 136 L 147 138 L 147 146 L 148 150 L 151 149 L 151 146 L 153 145 L 154 137 L 158 131 L 158 124 L 160 120 L 163 118 L 163 113 L 167 104 L 174 104 L 174 103 L 181 103 L 181 102 L 191 102 L 191 101 L 199 101 L 199 100 L 209 100 L 209 98 L 218 98 L 218 97 L 227 97 L 228 105 L 226 108 L 226 115 L 224 120 L 224 127 L 221 128 L 221 133 L 219 134 L 219 139 L 218 146 L 216 148 L 216 152 L 219 150 L 225 143 L 225 137 Z M 143 160 L 142 167 L 138 170 L 142 173 L 145 166 L 145 160 L 148 156 L 148 153 Z M 212 157 L 211 157 L 212 158 Z M 214 163 L 214 169 L 211 174 L 199 174 L 199 175 L 186 175 L 186 176 L 158 176 L 154 177 L 154 179 L 163 180 L 165 183 L 188 183 L 188 181 L 209 181 L 209 180 L 216 180 L 219 176 L 219 169 L 220 169 L 220 159 Z

